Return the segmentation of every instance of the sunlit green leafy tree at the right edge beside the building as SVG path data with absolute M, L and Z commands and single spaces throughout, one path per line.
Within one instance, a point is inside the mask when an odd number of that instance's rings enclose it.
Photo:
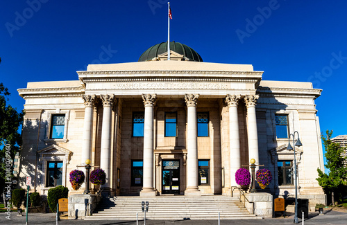
M 326 136 L 321 135 L 323 145 L 325 147 L 325 159 L 327 164 L 325 168 L 329 169 L 329 174 L 325 174 L 319 168 L 317 169 L 319 178 L 316 180 L 325 192 L 330 192 L 332 197 L 332 204 L 335 205 L 335 194 L 337 194 L 337 199 L 341 201 L 343 197 L 344 190 L 347 186 L 347 168 L 344 164 L 346 162 L 346 157 L 342 156 L 341 153 L 344 152 L 345 148 L 341 147 L 339 143 L 333 143 L 331 141 L 332 131 L 327 130 Z

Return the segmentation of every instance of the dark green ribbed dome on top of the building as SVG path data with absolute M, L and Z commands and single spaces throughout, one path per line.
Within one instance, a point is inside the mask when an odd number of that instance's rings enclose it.
M 185 44 L 180 44 L 179 42 L 170 42 L 170 50 L 183 55 L 183 57 L 189 61 L 203 62 L 201 56 L 198 55 L 193 48 L 190 48 Z M 155 46 L 151 46 L 151 48 L 142 53 L 141 57 L 139 57 L 139 62 L 152 61 L 153 58 L 158 57 L 158 55 L 162 53 L 167 53 L 167 42 L 162 42 L 160 44 L 155 44 Z

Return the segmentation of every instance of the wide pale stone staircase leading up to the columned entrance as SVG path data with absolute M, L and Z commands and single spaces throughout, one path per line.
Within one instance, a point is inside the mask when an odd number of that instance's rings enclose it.
M 251 215 L 237 197 L 222 195 L 189 198 L 181 195 L 158 197 L 115 197 L 103 198 L 101 204 L 86 220 L 139 220 L 144 219 L 142 201 L 149 201 L 146 219 L 262 219 Z

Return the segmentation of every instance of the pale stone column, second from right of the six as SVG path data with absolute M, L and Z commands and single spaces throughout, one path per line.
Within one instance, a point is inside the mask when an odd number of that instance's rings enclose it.
M 230 188 L 238 186 L 235 181 L 235 173 L 241 168 L 241 152 L 239 145 L 239 118 L 237 105 L 241 96 L 226 96 L 226 104 L 229 107 L 229 143 L 230 143 Z

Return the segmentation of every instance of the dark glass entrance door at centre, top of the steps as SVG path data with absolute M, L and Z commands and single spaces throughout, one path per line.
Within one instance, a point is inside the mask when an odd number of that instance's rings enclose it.
M 162 193 L 180 193 L 180 161 L 162 161 Z

